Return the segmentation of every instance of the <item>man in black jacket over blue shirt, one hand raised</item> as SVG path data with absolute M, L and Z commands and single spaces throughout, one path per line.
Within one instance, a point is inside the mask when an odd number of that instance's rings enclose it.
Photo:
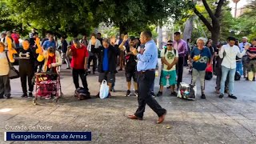
M 91 50 L 93 53 L 98 53 L 98 82 L 100 84 L 104 79 L 108 82 L 108 86 L 112 86 L 112 83 L 115 82 L 115 73 L 117 64 L 115 62 L 115 58 L 118 55 L 118 46 L 110 45 L 109 39 L 102 40 L 103 46 L 100 46 L 98 49 L 95 49 L 96 40 L 92 40 L 91 42 Z M 99 93 L 96 95 L 99 97 Z M 109 93 L 108 98 L 111 97 Z

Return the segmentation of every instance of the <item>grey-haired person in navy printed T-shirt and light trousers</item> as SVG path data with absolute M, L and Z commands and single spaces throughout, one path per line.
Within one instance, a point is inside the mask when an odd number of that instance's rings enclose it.
M 205 76 L 206 76 L 206 67 L 207 63 L 211 63 L 211 53 L 209 48 L 205 47 L 205 38 L 198 38 L 197 46 L 191 51 L 190 54 L 190 63 L 193 59 L 192 70 L 192 85 L 195 85 L 197 82 L 198 76 L 201 83 L 201 98 L 206 99 L 205 94 Z

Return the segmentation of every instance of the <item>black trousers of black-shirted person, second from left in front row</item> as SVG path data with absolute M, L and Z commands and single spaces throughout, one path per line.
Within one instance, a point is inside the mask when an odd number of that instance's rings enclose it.
M 29 91 L 33 92 L 34 83 L 32 83 L 32 78 L 34 77 L 34 66 L 20 67 L 19 68 L 19 74 L 20 74 L 20 77 L 21 77 L 23 94 L 27 93 L 26 81 L 27 81 L 28 86 L 29 86 Z

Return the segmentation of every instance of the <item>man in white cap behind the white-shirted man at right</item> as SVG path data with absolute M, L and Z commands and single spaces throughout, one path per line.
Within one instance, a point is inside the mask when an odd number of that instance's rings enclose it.
M 240 52 L 242 52 L 245 46 L 248 44 L 248 38 L 242 37 L 242 42 L 239 43 Z M 242 67 L 243 67 L 243 77 L 247 78 L 247 64 L 248 64 L 248 55 L 245 54 L 242 57 Z

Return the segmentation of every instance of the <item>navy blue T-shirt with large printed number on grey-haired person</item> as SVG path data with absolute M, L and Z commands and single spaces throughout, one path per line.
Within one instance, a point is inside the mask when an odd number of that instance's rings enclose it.
M 191 58 L 198 57 L 198 60 L 193 61 L 193 68 L 199 71 L 206 70 L 207 62 L 210 61 L 211 54 L 207 47 L 199 50 L 198 47 L 194 47 L 190 54 Z

